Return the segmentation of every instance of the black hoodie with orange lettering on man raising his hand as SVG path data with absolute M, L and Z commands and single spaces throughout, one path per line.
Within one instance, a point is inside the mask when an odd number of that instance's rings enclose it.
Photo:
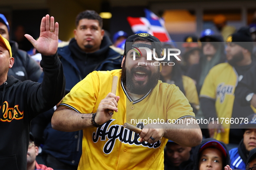
M 58 56 L 43 56 L 41 66 L 45 72 L 42 83 L 8 76 L 0 85 L 0 170 L 26 170 L 30 121 L 64 96 L 65 78 Z

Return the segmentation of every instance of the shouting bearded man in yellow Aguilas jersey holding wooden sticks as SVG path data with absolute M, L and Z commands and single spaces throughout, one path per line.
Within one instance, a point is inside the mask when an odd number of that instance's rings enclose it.
M 159 81 L 160 66 L 150 64 L 157 63 L 154 59 L 147 60 L 147 52 L 160 58 L 161 51 L 156 37 L 132 35 L 126 40 L 122 69 L 94 71 L 65 96 L 52 117 L 52 127 L 83 129 L 78 170 L 163 170 L 168 139 L 188 147 L 200 144 L 198 124 L 186 124 L 186 119 L 195 120 L 188 100 L 175 85 Z M 118 77 L 116 95 L 109 93 L 113 76 Z M 124 128 L 126 122 L 142 129 L 140 135 Z

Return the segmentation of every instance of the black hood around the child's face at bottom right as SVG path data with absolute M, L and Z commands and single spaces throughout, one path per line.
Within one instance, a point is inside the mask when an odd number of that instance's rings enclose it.
M 216 140 L 216 139 L 213 139 L 213 138 L 207 138 L 207 139 L 203 139 L 202 140 L 202 142 L 201 142 L 201 144 L 200 145 L 198 145 L 198 146 L 196 146 L 196 148 L 194 149 L 194 154 L 193 154 L 193 158 L 194 158 L 194 164 L 193 164 L 193 170 L 199 170 L 199 159 L 200 159 L 200 154 L 201 154 L 201 152 L 199 152 L 200 151 L 200 148 L 206 143 L 206 142 L 209 142 L 209 141 L 217 141 L 217 142 L 219 142 L 222 146 L 224 146 L 224 148 L 226 149 L 226 151 L 227 151 L 227 157 L 226 157 L 226 162 L 223 162 L 223 170 L 224 170 L 224 167 L 226 166 L 226 165 L 230 165 L 230 155 L 229 155 L 229 152 L 228 152 L 228 149 L 227 149 L 227 146 L 226 146 L 226 144 L 224 144 L 224 142 L 220 142 L 220 141 L 218 141 L 218 140 Z

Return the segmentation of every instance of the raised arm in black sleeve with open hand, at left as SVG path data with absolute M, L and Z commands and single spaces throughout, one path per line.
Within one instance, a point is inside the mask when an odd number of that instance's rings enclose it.
M 58 22 L 54 23 L 54 18 L 46 15 L 41 21 L 38 40 L 27 34 L 25 37 L 42 54 L 40 65 L 45 74 L 41 84 L 28 82 L 30 87 L 24 93 L 32 113 L 42 113 L 58 104 L 65 93 L 63 67 L 57 55 Z

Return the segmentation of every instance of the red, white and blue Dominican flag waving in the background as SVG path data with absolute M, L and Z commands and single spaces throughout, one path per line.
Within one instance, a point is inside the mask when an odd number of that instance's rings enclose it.
M 171 41 L 171 38 L 164 26 L 164 20 L 156 16 L 150 10 L 145 9 L 146 18 L 127 17 L 129 24 L 135 34 L 148 33 L 157 37 L 160 41 Z

